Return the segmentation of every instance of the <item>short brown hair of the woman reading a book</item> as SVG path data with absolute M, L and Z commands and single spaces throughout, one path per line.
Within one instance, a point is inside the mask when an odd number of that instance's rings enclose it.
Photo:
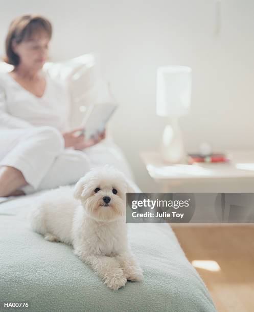
M 52 25 L 51 22 L 39 15 L 23 15 L 15 18 L 11 24 L 5 41 L 6 57 L 4 61 L 11 65 L 19 64 L 19 57 L 12 48 L 12 42 L 20 43 L 23 40 L 30 39 L 35 33 L 44 31 L 51 39 Z

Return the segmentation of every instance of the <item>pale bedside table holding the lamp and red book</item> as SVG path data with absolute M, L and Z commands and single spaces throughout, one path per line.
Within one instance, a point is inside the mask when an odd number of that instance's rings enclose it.
M 232 179 L 251 179 L 254 188 L 254 151 L 229 151 L 229 163 L 200 163 L 197 165 L 164 163 L 158 152 L 140 154 L 149 175 L 160 184 L 161 192 L 183 183 L 205 183 Z

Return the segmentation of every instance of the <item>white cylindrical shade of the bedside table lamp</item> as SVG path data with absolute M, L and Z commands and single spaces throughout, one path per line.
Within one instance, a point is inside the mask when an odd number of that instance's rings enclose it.
M 187 66 L 163 66 L 157 69 L 156 113 L 182 116 L 191 106 L 192 69 Z

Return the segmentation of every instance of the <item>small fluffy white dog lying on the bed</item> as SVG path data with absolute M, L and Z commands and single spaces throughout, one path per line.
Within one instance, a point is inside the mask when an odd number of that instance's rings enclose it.
M 127 242 L 125 193 L 131 191 L 124 175 L 112 168 L 90 170 L 76 186 L 41 195 L 31 215 L 34 231 L 52 242 L 74 247 L 74 253 L 112 290 L 127 280 L 141 281 Z

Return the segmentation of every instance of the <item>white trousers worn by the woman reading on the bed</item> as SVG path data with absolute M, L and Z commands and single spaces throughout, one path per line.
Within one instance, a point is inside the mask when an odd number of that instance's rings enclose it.
M 0 130 L 0 166 L 22 172 L 28 185 L 21 189 L 26 194 L 74 184 L 90 168 L 105 164 L 132 179 L 122 151 L 110 139 L 79 151 L 65 149 L 63 137 L 54 127 Z

